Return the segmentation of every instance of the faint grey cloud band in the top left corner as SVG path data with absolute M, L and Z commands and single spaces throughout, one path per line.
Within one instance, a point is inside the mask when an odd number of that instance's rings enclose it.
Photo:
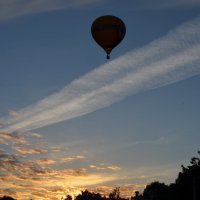
M 50 10 L 69 9 L 95 4 L 100 0 L 0 0 L 0 20 Z

